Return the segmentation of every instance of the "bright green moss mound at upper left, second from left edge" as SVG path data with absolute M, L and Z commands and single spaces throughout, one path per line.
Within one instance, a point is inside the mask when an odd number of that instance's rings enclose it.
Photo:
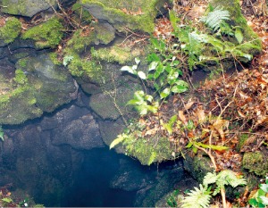
M 58 46 L 63 38 L 63 24 L 57 18 L 28 29 L 23 35 L 23 39 L 35 40 L 38 49 Z

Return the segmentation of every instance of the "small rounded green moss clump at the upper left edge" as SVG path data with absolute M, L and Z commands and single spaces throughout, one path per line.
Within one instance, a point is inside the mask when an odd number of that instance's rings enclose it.
M 17 18 L 8 18 L 4 27 L 0 28 L 0 39 L 4 40 L 4 43 L 12 43 L 13 40 L 21 33 L 21 21 Z

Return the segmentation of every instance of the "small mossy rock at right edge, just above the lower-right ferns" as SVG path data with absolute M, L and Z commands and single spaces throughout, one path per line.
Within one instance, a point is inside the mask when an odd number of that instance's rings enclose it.
M 267 153 L 245 153 L 243 156 L 243 168 L 249 172 L 254 172 L 258 176 L 265 177 L 268 172 Z

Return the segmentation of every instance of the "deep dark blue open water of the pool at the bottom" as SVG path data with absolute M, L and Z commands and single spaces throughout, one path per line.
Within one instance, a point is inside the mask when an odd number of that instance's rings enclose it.
M 80 170 L 77 170 L 73 176 L 74 184 L 68 191 L 63 206 L 133 206 L 135 191 L 110 187 L 110 181 L 120 167 L 119 160 L 121 158 L 126 159 L 126 156 L 109 151 L 108 148 L 95 149 L 85 153 L 84 162 Z M 133 169 L 140 166 L 138 162 L 133 161 L 132 163 Z

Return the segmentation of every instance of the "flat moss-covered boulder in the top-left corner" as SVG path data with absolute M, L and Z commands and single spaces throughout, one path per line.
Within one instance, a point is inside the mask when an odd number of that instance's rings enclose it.
M 2 12 L 32 17 L 38 12 L 56 6 L 56 0 L 2 0 Z

